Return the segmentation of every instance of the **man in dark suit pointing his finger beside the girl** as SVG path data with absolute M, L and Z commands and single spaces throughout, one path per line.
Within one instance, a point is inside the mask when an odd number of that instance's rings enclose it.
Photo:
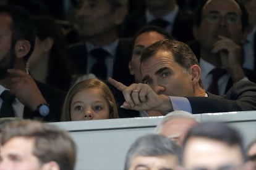
M 216 96 L 205 92 L 201 69 L 192 50 L 182 42 L 164 39 L 148 46 L 140 59 L 143 83 L 124 84 L 109 78 L 123 92 L 124 108 L 190 113 L 242 111 L 256 109 L 256 84 L 240 80 L 228 94 Z

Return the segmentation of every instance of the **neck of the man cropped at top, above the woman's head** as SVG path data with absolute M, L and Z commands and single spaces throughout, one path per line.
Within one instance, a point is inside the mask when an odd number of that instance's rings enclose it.
M 177 6 L 176 2 L 171 2 L 171 4 L 169 4 L 168 6 L 148 8 L 148 10 L 155 17 L 162 18 L 164 17 L 164 15 L 174 10 L 176 6 Z

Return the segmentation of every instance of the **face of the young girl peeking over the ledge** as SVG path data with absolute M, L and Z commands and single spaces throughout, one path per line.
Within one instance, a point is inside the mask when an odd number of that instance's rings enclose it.
M 72 121 L 108 119 L 108 101 L 102 96 L 101 89 L 85 89 L 74 95 L 70 104 Z

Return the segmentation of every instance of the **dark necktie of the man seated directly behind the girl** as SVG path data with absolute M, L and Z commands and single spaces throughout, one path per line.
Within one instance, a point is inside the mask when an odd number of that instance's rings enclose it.
M 100 79 L 106 79 L 106 73 L 108 70 L 106 68 L 105 59 L 109 53 L 104 49 L 99 48 L 94 49 L 91 54 L 96 59 L 96 63 L 93 65 L 91 73 Z

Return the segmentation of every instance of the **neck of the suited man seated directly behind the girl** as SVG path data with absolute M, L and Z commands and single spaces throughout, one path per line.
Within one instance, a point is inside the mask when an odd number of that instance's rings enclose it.
M 109 31 L 109 33 L 88 37 L 86 39 L 93 42 L 93 44 L 95 44 L 96 46 L 105 46 L 107 44 L 111 44 L 111 42 L 116 41 L 116 39 L 118 39 L 118 36 L 116 31 Z

